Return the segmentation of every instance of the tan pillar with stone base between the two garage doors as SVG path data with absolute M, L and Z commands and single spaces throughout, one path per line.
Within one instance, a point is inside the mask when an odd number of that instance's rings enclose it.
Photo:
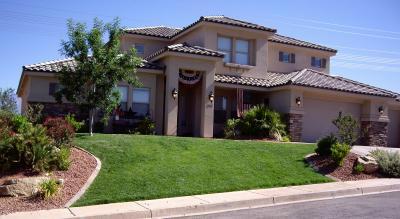
M 388 106 L 385 102 L 367 101 L 361 115 L 361 144 L 387 147 Z

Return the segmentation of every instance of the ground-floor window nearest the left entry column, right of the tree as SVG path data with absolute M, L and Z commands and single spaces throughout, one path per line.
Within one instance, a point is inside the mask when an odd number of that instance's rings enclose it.
M 134 88 L 132 96 L 132 110 L 135 116 L 148 116 L 150 114 L 150 89 Z

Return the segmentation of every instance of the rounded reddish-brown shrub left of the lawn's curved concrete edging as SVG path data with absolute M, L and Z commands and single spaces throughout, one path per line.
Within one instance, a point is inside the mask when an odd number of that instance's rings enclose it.
M 43 125 L 47 128 L 47 135 L 50 136 L 57 147 L 69 145 L 75 135 L 74 128 L 64 118 L 48 117 Z

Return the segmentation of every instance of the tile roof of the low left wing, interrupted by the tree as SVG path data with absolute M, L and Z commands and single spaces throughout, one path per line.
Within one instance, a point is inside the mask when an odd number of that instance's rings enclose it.
M 62 60 L 52 60 L 48 62 L 42 62 L 32 65 L 22 66 L 23 70 L 27 71 L 38 71 L 38 72 L 60 72 L 63 66 L 75 67 L 75 61 L 72 58 L 62 59 Z M 161 66 L 143 60 L 143 65 L 140 67 L 142 69 L 163 69 Z

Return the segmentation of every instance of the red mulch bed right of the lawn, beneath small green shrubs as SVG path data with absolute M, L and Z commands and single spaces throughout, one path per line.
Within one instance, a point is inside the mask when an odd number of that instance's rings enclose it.
M 307 158 L 307 161 L 317 169 L 319 173 L 324 175 L 331 175 L 342 181 L 350 180 L 364 180 L 364 179 L 374 179 L 382 177 L 379 173 L 374 174 L 357 174 L 354 172 L 354 166 L 356 165 L 358 155 L 354 153 L 349 153 L 344 160 L 343 166 L 337 167 L 334 161 L 327 156 L 319 156 L 317 154 Z

